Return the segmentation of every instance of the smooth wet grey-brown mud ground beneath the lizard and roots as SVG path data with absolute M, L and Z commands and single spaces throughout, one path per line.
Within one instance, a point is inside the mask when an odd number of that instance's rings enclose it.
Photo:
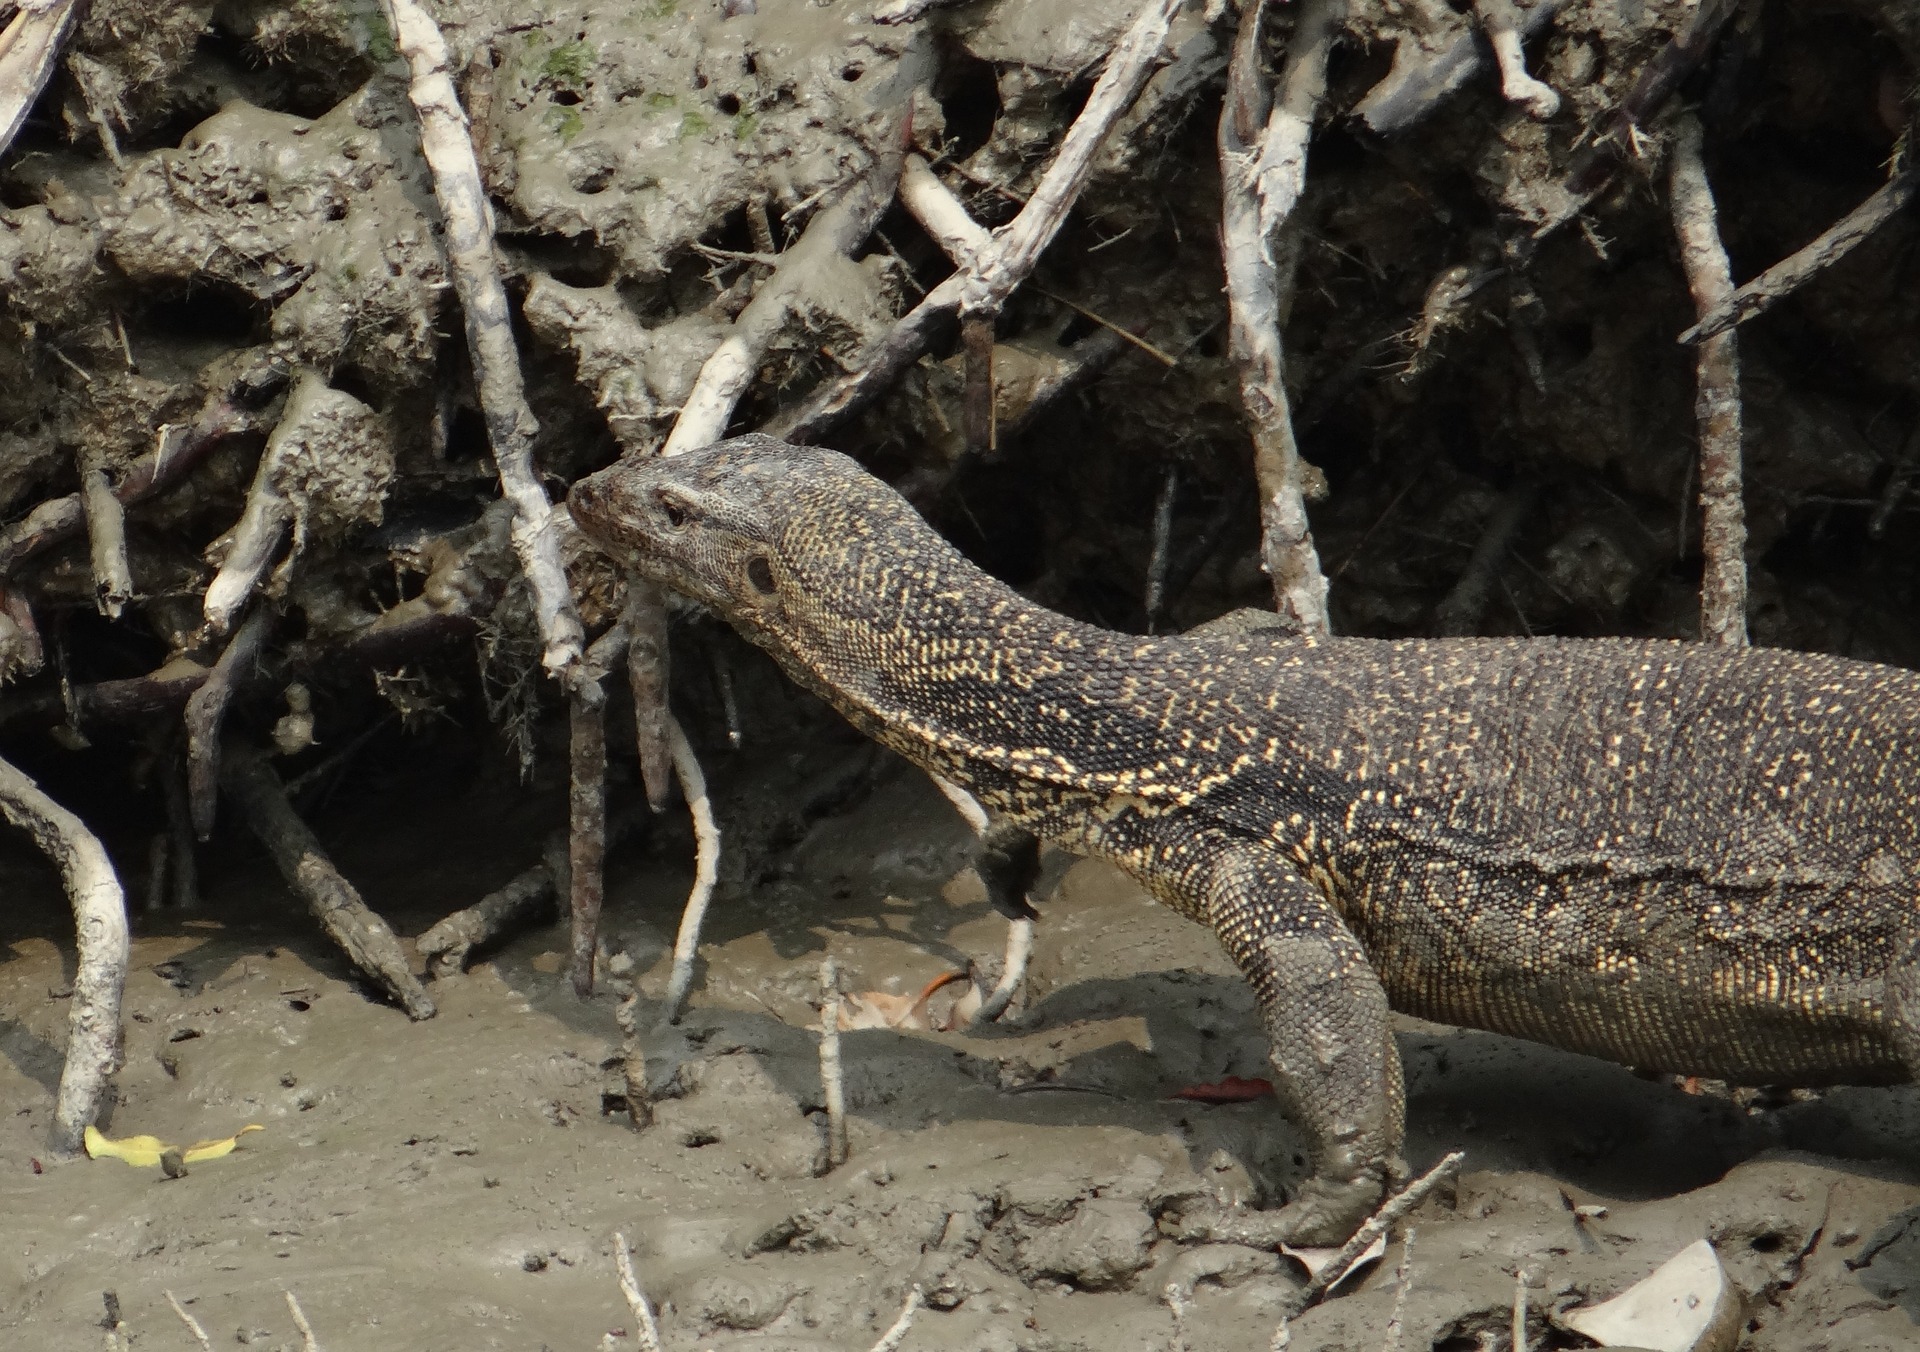
M 716 755 L 722 826 L 835 774 L 849 743 Z M 764 766 L 780 764 L 778 776 Z M 758 768 L 756 768 L 758 766 Z M 372 753 L 317 822 L 401 933 L 524 866 L 547 820 L 461 766 Z M 434 849 L 422 851 L 420 841 Z M 1302 1273 L 1187 1246 L 1156 1216 L 1194 1193 L 1284 1183 L 1271 1104 L 1171 1098 L 1260 1075 L 1244 983 L 1213 939 L 1098 864 L 1054 860 L 1035 978 L 983 1035 L 845 1033 L 852 1160 L 818 1175 L 818 966 L 851 991 L 918 991 L 998 951 L 960 820 L 902 764 L 722 897 L 662 1093 L 636 1133 L 609 1102 L 614 997 L 574 999 L 543 926 L 434 985 L 413 1024 L 369 997 L 261 855 L 207 864 L 204 912 L 138 920 L 127 1070 L 109 1135 L 240 1150 L 165 1179 L 113 1160 L 35 1164 L 60 1066 L 71 951 L 44 866 L 10 849 L 0 962 L 0 1342 L 98 1348 L 102 1292 L 134 1346 L 593 1348 L 632 1337 L 611 1237 L 636 1244 L 668 1348 L 868 1348 L 920 1283 L 906 1348 L 1165 1348 L 1164 1291 L 1192 1291 L 1196 1350 L 1265 1348 Z M 609 870 L 607 931 L 657 999 L 691 876 L 662 818 Z M 1417 1231 L 1402 1346 L 1507 1346 L 1515 1271 L 1532 1346 L 1584 1346 L 1544 1310 L 1609 1294 L 1699 1237 L 1755 1294 L 1764 1352 L 1914 1346 L 1920 1206 L 1912 1089 L 1786 1106 L 1690 1095 L 1603 1062 L 1402 1024 L 1409 1162 L 1465 1148 Z M 670 1097 L 668 1097 L 670 1095 Z M 44 1171 L 38 1171 L 44 1168 Z M 1576 1214 L 1574 1206 L 1603 1206 Z M 1402 1241 L 1294 1323 L 1294 1348 L 1384 1346 Z M 616 1337 L 614 1346 L 634 1346 Z

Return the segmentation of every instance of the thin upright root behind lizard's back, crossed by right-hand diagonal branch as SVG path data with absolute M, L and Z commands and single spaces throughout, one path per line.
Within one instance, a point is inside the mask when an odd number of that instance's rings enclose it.
M 1701 315 L 1728 303 L 1734 273 L 1720 244 L 1718 213 L 1701 157 L 1699 119 L 1684 113 L 1674 129 L 1667 179 L 1674 234 L 1693 307 Z M 1747 643 L 1747 509 L 1740 465 L 1740 351 L 1732 332 L 1699 344 L 1693 359 L 1693 417 L 1699 421 L 1699 634 L 1713 643 Z

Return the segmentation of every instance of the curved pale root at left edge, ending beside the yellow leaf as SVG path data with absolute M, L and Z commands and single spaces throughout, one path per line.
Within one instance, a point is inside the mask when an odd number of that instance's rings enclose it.
M 100 1116 L 121 1060 L 121 995 L 127 989 L 127 899 L 113 860 L 86 824 L 0 760 L 0 814 L 33 837 L 60 870 L 73 903 L 75 972 L 67 1012 L 67 1060 L 54 1098 L 54 1154 L 75 1154 Z

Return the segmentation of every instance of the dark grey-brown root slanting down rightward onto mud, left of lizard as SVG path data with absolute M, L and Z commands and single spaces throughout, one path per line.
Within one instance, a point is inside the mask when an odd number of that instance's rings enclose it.
M 432 1018 L 434 1001 L 413 976 L 407 953 L 388 928 L 361 901 L 334 862 L 321 849 L 319 837 L 300 820 L 286 801 L 280 778 L 253 747 L 228 743 L 223 757 L 221 785 L 240 807 L 253 835 L 267 847 L 280 878 L 300 893 L 315 920 L 338 943 L 361 972 L 380 983 L 407 1018 Z

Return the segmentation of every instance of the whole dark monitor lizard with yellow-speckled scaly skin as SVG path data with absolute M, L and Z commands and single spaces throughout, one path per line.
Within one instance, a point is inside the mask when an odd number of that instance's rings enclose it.
M 570 505 L 862 732 L 1213 928 L 1313 1147 L 1265 1239 L 1342 1239 L 1398 1168 L 1388 1006 L 1738 1083 L 1916 1064 L 1920 676 L 1114 634 L 1027 603 L 851 459 L 764 436 L 622 461 Z

